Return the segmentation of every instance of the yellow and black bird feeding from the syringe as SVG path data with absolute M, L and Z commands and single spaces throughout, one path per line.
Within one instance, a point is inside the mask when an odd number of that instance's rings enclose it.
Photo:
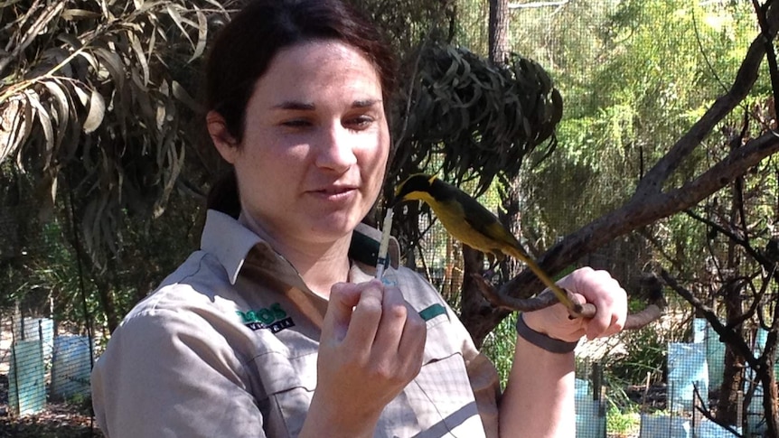
M 572 314 L 578 314 L 581 306 L 573 303 L 538 264 L 530 258 L 519 240 L 504 228 L 498 218 L 474 200 L 465 191 L 424 173 L 408 177 L 395 189 L 394 204 L 404 200 L 422 200 L 436 213 L 436 217 L 453 238 L 469 247 L 493 255 L 497 259 L 512 256 L 521 260 L 537 275 L 541 282 L 568 307 Z

